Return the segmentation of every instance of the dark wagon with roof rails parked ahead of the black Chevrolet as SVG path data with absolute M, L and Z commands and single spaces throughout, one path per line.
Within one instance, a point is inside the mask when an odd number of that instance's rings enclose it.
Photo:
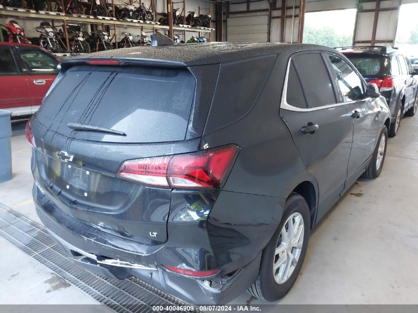
M 339 49 L 369 83 L 386 98 L 391 112 L 389 136 L 398 132 L 402 117 L 414 116 L 418 106 L 418 69 L 396 47 L 352 46 Z

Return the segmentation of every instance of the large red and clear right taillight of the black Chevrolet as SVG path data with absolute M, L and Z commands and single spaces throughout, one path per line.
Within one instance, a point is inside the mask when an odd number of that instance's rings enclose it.
M 238 146 L 229 144 L 192 153 L 128 160 L 116 176 L 160 187 L 220 188 L 238 151 Z

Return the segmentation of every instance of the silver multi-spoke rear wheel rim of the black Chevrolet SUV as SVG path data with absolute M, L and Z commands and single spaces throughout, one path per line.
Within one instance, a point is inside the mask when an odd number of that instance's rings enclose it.
M 293 213 L 281 229 L 275 251 L 273 275 L 278 284 L 285 283 L 299 261 L 303 246 L 304 223 L 302 215 Z

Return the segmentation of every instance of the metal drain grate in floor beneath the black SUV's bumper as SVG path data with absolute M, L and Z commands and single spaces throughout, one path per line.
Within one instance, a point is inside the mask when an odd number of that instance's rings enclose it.
M 116 312 L 153 312 L 152 306 L 186 305 L 138 278 L 97 276 L 65 257 L 45 227 L 0 203 L 0 235 L 17 248 Z

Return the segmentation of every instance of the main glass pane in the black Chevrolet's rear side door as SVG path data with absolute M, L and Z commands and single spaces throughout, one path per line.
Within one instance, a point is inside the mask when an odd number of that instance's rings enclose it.
M 331 79 L 320 53 L 304 53 L 292 57 L 305 91 L 309 108 L 335 104 Z

